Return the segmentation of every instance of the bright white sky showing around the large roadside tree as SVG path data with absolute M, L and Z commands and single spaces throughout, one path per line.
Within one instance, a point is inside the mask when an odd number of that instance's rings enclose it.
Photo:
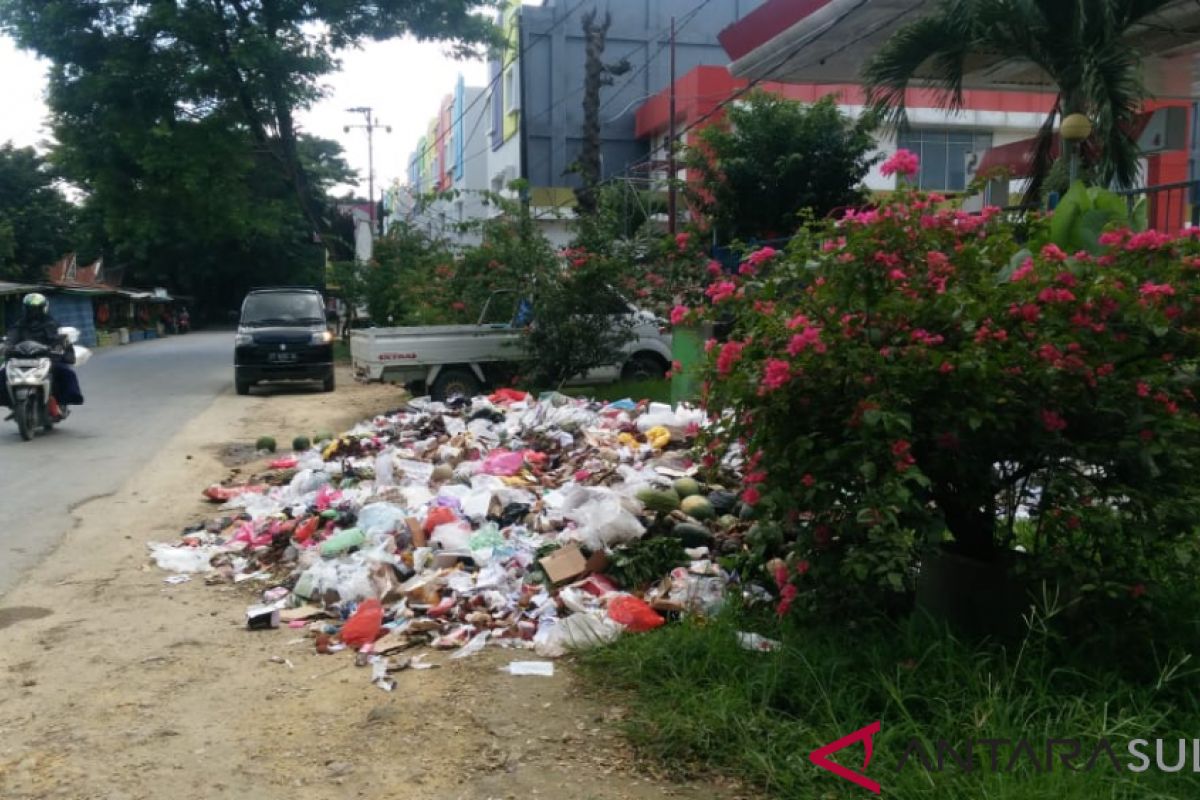
M 458 74 L 468 86 L 487 83 L 484 62 L 455 61 L 443 50 L 442 44 L 398 40 L 346 53 L 342 71 L 328 80 L 329 97 L 300 116 L 307 132 L 342 144 L 350 166 L 362 178 L 362 194 L 367 187 L 366 132 L 342 131 L 347 124 L 364 121 L 346 109 L 371 106 L 379 121 L 392 126 L 391 134 L 376 136 L 378 197 L 380 186 L 394 178 L 403 179 L 408 154 L 437 115 L 443 97 L 454 91 Z M 47 140 L 44 86 L 46 65 L 0 36 L 0 143 L 41 146 Z

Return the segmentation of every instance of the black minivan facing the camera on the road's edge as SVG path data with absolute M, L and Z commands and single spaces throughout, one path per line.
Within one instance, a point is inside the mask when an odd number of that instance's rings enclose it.
M 266 380 L 319 380 L 334 391 L 334 335 L 316 289 L 254 289 L 241 303 L 234 344 L 239 395 Z

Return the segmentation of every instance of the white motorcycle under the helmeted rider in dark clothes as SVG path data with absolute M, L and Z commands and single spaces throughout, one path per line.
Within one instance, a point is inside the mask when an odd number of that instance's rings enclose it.
M 62 336 L 58 347 L 41 342 L 16 342 L 5 345 L 2 355 L 4 381 L 8 402 L 12 408 L 10 420 L 16 420 L 20 438 L 29 441 L 37 428 L 49 433 L 55 425 L 67 419 L 70 411 L 60 407 L 60 416 L 50 416 L 50 386 L 54 373 L 54 361 L 64 360 L 74 366 L 83 366 L 91 357 L 91 351 L 77 347 L 79 331 L 73 327 L 61 327 Z

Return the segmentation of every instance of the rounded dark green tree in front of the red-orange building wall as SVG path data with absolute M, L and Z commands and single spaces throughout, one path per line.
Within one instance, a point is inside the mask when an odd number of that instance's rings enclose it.
M 688 154 L 702 176 L 692 201 L 722 241 L 790 235 L 802 211 L 823 217 L 863 199 L 872 127 L 868 116 L 847 119 L 832 97 L 804 106 L 752 92 Z

